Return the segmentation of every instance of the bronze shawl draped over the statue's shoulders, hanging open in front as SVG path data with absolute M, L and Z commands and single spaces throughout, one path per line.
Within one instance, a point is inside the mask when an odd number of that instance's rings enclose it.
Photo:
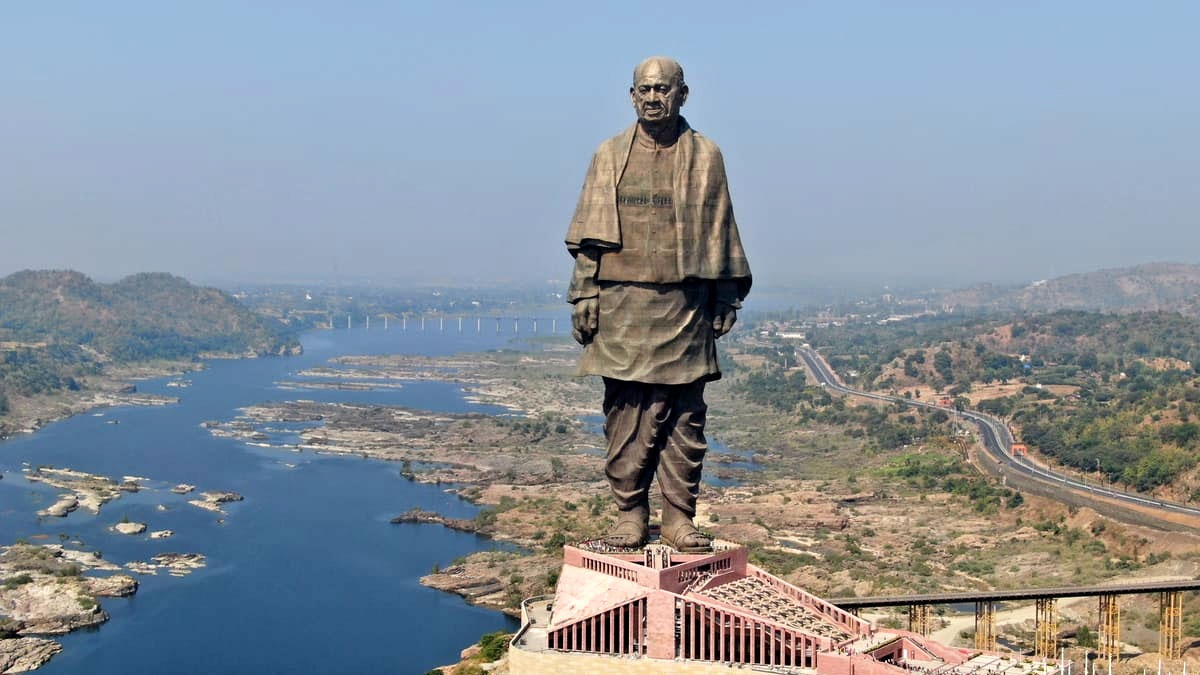
M 738 223 L 725 178 L 725 160 L 716 144 L 679 118 L 676 142 L 674 225 L 676 265 L 680 279 L 734 280 L 738 297 L 750 291 L 750 264 L 742 249 Z M 637 125 L 605 141 L 592 157 L 575 217 L 566 231 L 571 255 L 584 246 L 620 249 L 617 184 L 625 171 Z

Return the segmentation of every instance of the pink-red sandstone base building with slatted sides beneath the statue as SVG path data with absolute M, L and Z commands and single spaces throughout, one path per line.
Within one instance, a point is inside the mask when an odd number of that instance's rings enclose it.
M 948 647 L 876 631 L 748 561 L 743 546 L 685 555 L 564 548 L 553 598 L 523 605 L 515 675 L 709 674 L 1057 675 L 1055 663 Z

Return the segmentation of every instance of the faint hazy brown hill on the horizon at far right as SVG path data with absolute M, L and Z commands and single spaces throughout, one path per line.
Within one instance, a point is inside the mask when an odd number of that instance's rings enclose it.
M 1170 311 L 1200 316 L 1200 265 L 1147 263 L 1060 276 L 1024 288 L 983 285 L 950 292 L 943 303 L 984 310 Z

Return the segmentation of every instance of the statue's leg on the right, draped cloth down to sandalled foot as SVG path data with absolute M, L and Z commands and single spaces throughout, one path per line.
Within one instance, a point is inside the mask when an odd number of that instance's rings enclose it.
M 662 542 L 680 552 L 709 551 L 713 540 L 702 534 L 696 518 L 696 497 L 708 443 L 704 441 L 704 383 L 674 387 L 667 437 L 659 458 L 662 490 Z

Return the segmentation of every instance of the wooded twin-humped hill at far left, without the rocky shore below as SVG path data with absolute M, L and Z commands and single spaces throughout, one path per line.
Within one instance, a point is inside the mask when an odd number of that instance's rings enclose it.
M 132 362 L 204 352 L 277 354 L 296 342 L 229 294 L 169 274 L 96 283 L 78 271 L 0 279 L 0 341 L 82 345 Z

